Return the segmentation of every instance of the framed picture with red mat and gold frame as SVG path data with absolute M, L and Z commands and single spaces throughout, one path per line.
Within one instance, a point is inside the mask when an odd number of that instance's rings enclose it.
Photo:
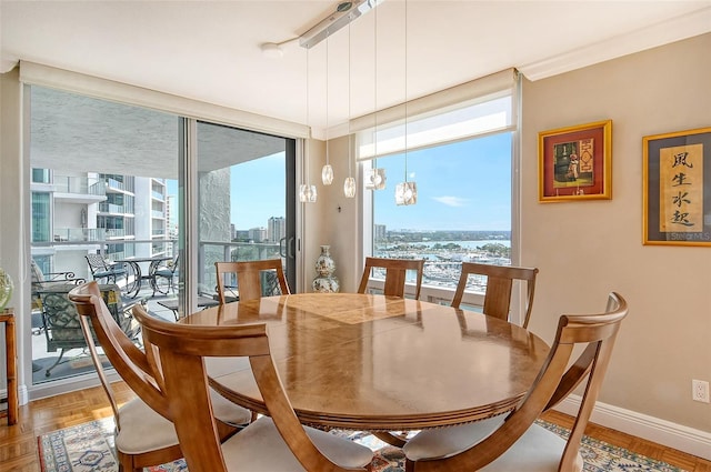
M 538 133 L 539 201 L 612 198 L 612 120 Z

